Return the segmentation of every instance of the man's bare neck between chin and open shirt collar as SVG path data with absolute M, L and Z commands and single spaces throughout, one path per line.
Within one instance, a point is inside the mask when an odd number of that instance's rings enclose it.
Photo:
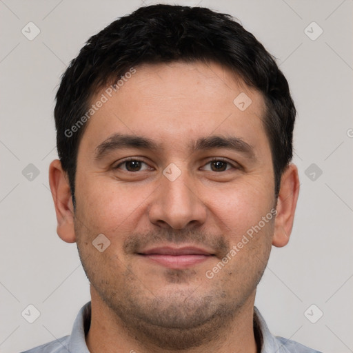
M 141 321 L 139 330 L 132 330 L 106 305 L 91 288 L 92 316 L 90 330 L 86 336 L 88 350 L 92 353 L 256 353 L 259 352 L 254 338 L 254 295 L 230 317 L 214 318 L 203 327 L 179 330 L 166 327 L 147 327 Z M 198 345 L 188 345 L 194 330 L 204 332 L 204 339 Z M 172 332 L 174 331 L 174 332 Z M 155 337 L 146 332 L 157 332 Z M 158 336 L 176 336 L 185 341 L 185 347 L 165 349 Z

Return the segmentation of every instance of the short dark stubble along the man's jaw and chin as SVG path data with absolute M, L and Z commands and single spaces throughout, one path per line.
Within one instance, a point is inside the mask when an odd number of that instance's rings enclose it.
M 235 293 L 224 290 L 225 280 L 217 279 L 205 278 L 206 289 L 203 285 L 190 288 L 185 283 L 192 278 L 192 270 L 165 270 L 162 281 L 180 284 L 184 289 L 175 290 L 173 286 L 174 290 L 170 292 L 154 293 L 148 288 L 148 279 L 141 281 L 137 278 L 131 265 L 122 266 L 117 255 L 99 259 L 101 253 L 83 251 L 84 246 L 92 244 L 85 241 L 84 236 L 79 236 L 81 230 L 77 223 L 75 232 L 83 269 L 101 302 L 110 308 L 117 327 L 123 327 L 133 340 L 152 349 L 187 350 L 223 341 L 223 333 L 229 333 L 230 325 L 236 322 L 236 316 L 241 314 L 245 303 L 249 299 L 253 301 L 256 286 L 265 270 L 265 264 L 258 264 L 254 270 L 247 269 L 251 276 L 245 279 L 247 283 L 242 283 L 244 278 L 241 274 L 234 279 L 234 269 L 223 268 L 224 277 L 231 281 L 242 280 L 239 281 L 241 288 L 236 288 Z M 92 259 L 92 254 L 95 259 Z M 109 270 L 104 271 L 106 269 Z M 238 269 L 239 272 L 242 270 Z

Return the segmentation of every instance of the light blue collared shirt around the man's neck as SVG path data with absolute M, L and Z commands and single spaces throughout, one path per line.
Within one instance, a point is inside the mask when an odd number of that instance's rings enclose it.
M 77 315 L 70 336 L 62 337 L 22 353 L 90 353 L 85 344 L 85 335 L 89 330 L 90 320 L 91 305 L 88 302 Z M 261 353 L 321 353 L 300 343 L 273 336 L 256 307 L 254 307 L 254 322 L 261 336 Z

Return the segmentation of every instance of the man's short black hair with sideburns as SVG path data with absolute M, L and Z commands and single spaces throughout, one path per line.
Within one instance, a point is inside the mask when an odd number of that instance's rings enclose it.
M 59 159 L 68 174 L 73 201 L 77 152 L 94 94 L 137 65 L 172 61 L 220 63 L 263 94 L 263 124 L 277 197 L 281 175 L 292 160 L 296 109 L 274 57 L 229 14 L 160 4 L 138 8 L 110 23 L 88 40 L 63 74 L 54 119 Z

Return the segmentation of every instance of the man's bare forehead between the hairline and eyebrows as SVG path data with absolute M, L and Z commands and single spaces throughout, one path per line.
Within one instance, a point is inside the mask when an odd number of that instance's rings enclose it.
M 91 99 L 94 104 L 104 96 L 105 103 L 88 121 L 83 139 L 88 135 L 99 143 L 119 132 L 185 145 L 188 138 L 214 133 L 265 134 L 262 94 L 229 68 L 172 62 L 143 64 L 130 72 L 117 92 L 104 88 Z

